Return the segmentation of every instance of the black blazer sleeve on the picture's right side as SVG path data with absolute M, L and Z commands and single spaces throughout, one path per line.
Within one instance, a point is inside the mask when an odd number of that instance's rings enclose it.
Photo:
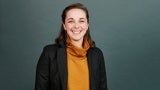
M 99 52 L 99 61 L 100 61 L 100 86 L 99 90 L 108 90 L 107 88 L 107 76 L 106 76 L 106 68 L 105 68 L 105 61 L 102 51 Z

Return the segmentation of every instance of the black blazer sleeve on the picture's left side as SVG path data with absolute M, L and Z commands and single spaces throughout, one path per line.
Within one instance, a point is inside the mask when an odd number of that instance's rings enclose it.
M 49 90 L 49 62 L 48 50 L 44 47 L 36 67 L 34 90 Z

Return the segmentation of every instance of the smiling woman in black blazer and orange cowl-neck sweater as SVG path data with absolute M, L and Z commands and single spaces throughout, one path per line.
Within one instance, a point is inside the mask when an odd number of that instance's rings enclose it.
M 64 9 L 55 42 L 39 58 L 35 90 L 107 90 L 104 57 L 91 39 L 86 7 Z

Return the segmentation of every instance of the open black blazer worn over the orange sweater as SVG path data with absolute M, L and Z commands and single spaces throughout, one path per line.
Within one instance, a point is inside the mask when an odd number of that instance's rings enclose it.
M 107 90 L 105 63 L 97 47 L 87 51 L 90 90 Z M 67 54 L 64 42 L 44 47 L 37 63 L 35 90 L 67 90 Z

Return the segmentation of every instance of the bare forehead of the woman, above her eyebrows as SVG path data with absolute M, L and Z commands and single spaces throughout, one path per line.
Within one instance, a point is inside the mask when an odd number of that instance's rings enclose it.
M 86 12 L 82 9 L 71 9 L 66 13 L 66 18 L 86 18 Z

